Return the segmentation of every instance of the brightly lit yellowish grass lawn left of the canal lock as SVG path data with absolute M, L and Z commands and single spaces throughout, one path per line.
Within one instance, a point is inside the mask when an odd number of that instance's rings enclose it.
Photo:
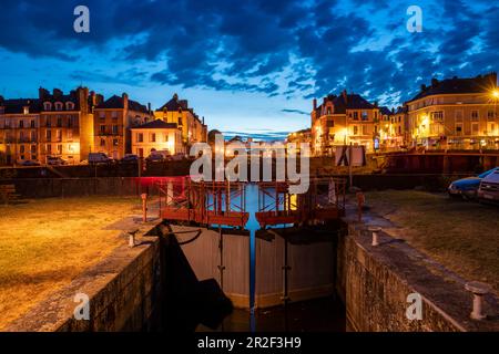
M 103 228 L 136 207 L 113 197 L 0 206 L 0 330 L 123 243 Z

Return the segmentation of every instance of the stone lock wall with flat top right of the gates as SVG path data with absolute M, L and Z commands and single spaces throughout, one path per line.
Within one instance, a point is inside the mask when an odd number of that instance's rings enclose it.
M 427 259 L 405 242 L 371 233 L 355 222 L 338 242 L 337 291 L 346 304 L 350 331 L 498 331 L 499 321 L 472 321 L 472 294 L 464 280 Z M 419 293 L 422 319 L 409 321 L 407 296 Z M 486 311 L 497 313 L 497 299 L 487 298 Z

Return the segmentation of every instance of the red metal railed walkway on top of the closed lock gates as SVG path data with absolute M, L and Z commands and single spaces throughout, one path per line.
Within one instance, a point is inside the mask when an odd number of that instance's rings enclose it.
M 171 222 L 244 229 L 249 219 L 246 185 L 228 180 L 195 183 L 190 176 L 162 178 L 155 183 L 160 216 Z M 345 179 L 310 179 L 308 191 L 302 195 L 289 194 L 289 185 L 257 184 L 255 217 L 262 229 L 325 223 L 345 215 Z

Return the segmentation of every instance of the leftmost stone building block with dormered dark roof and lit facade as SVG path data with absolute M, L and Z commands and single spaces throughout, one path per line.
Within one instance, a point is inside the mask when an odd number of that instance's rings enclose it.
M 86 87 L 69 94 L 41 87 L 38 98 L 0 97 L 0 164 L 45 163 L 48 156 L 80 163 L 93 148 L 93 104 Z

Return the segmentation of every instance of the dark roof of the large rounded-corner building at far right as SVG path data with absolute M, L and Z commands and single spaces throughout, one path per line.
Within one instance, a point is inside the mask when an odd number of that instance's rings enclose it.
M 491 87 L 497 86 L 497 74 L 490 73 L 488 75 L 478 75 L 477 77 L 459 79 L 457 76 L 452 79 L 446 79 L 438 81 L 431 80 L 431 85 L 421 85 L 420 92 L 414 96 L 410 101 L 420 100 L 422 97 L 441 94 L 462 94 L 462 93 L 483 93 Z

